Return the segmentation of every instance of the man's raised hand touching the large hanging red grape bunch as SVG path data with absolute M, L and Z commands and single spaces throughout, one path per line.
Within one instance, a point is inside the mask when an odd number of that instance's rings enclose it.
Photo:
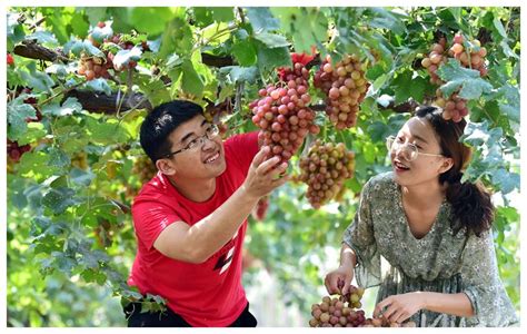
M 287 163 L 278 165 L 280 161 L 278 157 L 266 160 L 269 151 L 269 147 L 264 146 L 252 159 L 247 178 L 241 186 L 247 196 L 258 199 L 289 180 L 289 176 L 281 176 L 287 169 Z

